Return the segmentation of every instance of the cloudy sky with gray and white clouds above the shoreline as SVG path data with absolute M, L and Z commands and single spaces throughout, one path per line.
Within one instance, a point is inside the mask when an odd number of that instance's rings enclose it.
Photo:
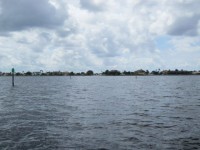
M 200 70 L 200 0 L 0 0 L 0 71 Z

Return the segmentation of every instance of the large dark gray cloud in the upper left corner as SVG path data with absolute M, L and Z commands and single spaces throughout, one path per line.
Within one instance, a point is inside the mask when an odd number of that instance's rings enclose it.
M 64 23 L 65 15 L 48 0 L 1 0 L 0 32 L 33 27 L 52 28 Z

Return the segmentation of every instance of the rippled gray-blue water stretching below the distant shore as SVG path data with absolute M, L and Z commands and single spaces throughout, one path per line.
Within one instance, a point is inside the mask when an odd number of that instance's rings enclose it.
M 0 149 L 200 149 L 200 76 L 0 77 Z

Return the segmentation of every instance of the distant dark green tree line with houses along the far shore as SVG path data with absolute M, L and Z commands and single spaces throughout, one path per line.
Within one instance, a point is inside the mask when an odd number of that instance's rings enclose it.
M 43 72 L 16 72 L 16 76 L 92 76 L 92 75 L 103 75 L 103 76 L 145 76 L 145 75 L 200 75 L 199 71 L 187 71 L 187 70 L 160 70 L 156 69 L 153 71 L 149 70 L 136 70 L 136 71 L 119 71 L 119 70 L 105 70 L 101 73 L 94 73 L 92 70 L 86 72 L 62 72 L 62 71 L 48 71 Z M 0 76 L 11 76 L 11 73 L 0 72 Z

